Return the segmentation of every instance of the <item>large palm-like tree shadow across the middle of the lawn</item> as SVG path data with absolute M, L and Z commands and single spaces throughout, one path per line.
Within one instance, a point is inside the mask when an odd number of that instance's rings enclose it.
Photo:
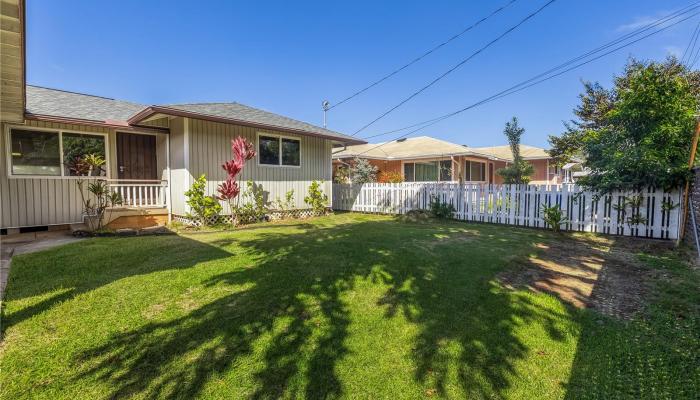
M 111 398 L 192 398 L 210 382 L 226 384 L 227 375 L 249 371 L 244 359 L 262 348 L 264 365 L 254 372 L 250 398 L 339 397 L 336 366 L 349 354 L 353 320 L 343 295 L 369 279 L 388 287 L 378 304 L 384 318 L 402 313 L 419 327 L 414 371 L 388 365 L 384 373 L 413 374 L 428 391 L 445 394 L 453 384 L 448 369 L 458 365 L 454 384 L 465 393 L 502 397 L 514 364 L 531 351 L 515 330 L 542 324 L 561 340 L 557 321 L 565 316 L 492 280 L 507 263 L 494 258 L 506 249 L 528 251 L 541 239 L 513 229 L 494 241 L 502 229 L 467 228 L 380 221 L 217 239 L 217 246 L 256 258 L 255 265 L 206 282 L 231 293 L 180 318 L 114 334 L 76 358 L 77 379 L 107 382 Z M 459 236 L 474 246 L 445 240 Z M 447 350 L 453 345 L 460 347 L 456 355 Z

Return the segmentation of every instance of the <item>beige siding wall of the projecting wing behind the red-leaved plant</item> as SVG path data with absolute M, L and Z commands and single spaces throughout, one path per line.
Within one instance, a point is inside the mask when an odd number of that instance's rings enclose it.
M 184 179 L 196 178 L 201 174 L 205 174 L 209 181 L 207 187 L 209 194 L 216 194 L 216 187 L 226 179 L 226 173 L 221 168 L 221 164 L 232 158 L 231 140 L 238 136 L 243 136 L 257 145 L 258 133 L 268 133 L 299 138 L 301 140 L 301 166 L 261 166 L 258 164 L 256 157 L 246 163 L 241 176 L 242 180 L 251 179 L 255 184 L 261 185 L 265 200 L 268 202 L 273 202 L 277 197 L 284 199 L 286 192 L 293 189 L 295 206 L 298 208 L 306 207 L 304 196 L 306 196 L 308 187 L 313 180 L 324 181 L 323 191 L 329 198 L 331 197 L 331 141 L 240 125 L 194 119 L 188 119 L 188 121 L 188 126 L 185 126 L 187 133 L 183 134 L 182 137 L 187 136 L 189 138 L 188 171 L 190 174 L 189 176 L 183 174 L 185 175 Z M 173 131 L 172 134 L 174 139 L 176 133 Z M 175 154 L 175 150 L 173 150 L 173 154 Z M 175 187 L 176 185 L 173 186 L 173 188 Z M 185 185 L 178 184 L 177 187 L 183 193 L 182 197 L 184 199 Z M 173 200 L 178 197 L 178 193 L 173 193 Z M 227 205 L 224 206 L 226 208 L 225 211 L 228 211 Z M 181 214 L 185 211 L 184 204 L 181 207 L 173 206 L 173 213 L 175 214 Z

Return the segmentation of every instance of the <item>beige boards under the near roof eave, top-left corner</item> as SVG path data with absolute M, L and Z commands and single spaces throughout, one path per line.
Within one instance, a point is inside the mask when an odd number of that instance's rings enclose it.
M 24 50 L 19 0 L 0 0 L 0 121 L 24 119 Z

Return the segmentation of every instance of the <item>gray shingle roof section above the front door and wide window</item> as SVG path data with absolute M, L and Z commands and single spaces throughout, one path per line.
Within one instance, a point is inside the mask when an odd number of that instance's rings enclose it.
M 35 115 L 126 121 L 144 108 L 128 101 L 27 85 L 27 112 Z

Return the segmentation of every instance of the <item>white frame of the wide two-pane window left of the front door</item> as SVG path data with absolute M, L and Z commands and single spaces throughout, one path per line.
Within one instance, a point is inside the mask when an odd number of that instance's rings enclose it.
M 21 131 L 37 131 L 37 132 L 53 132 L 58 135 L 58 150 L 61 153 L 61 175 L 15 175 L 12 173 L 12 130 Z M 40 128 L 27 125 L 7 125 L 5 128 L 5 156 L 6 167 L 7 167 L 7 177 L 9 179 L 81 179 L 84 176 L 70 176 L 65 175 L 65 162 L 63 159 L 63 134 L 72 133 L 77 135 L 90 135 L 90 136 L 102 136 L 105 140 L 105 176 L 92 176 L 93 179 L 111 179 L 111 160 L 109 157 L 110 146 L 109 146 L 109 134 L 103 132 L 89 132 L 89 131 L 76 131 L 72 129 L 52 129 L 52 128 Z

